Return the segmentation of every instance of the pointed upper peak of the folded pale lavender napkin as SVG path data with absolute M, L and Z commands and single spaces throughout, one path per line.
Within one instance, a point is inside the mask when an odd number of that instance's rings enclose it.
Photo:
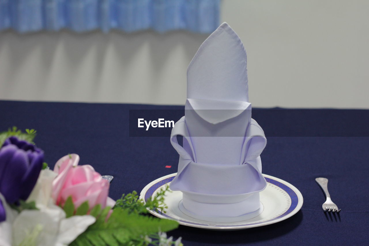
M 248 102 L 247 54 L 238 35 L 221 24 L 187 68 L 187 98 Z

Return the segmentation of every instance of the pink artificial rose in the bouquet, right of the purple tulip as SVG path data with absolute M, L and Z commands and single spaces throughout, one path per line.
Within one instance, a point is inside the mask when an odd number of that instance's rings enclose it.
M 101 178 L 90 165 L 78 165 L 79 156 L 71 154 L 59 159 L 54 167 L 58 173 L 52 186 L 52 197 L 57 205 L 63 205 L 72 196 L 73 204 L 79 207 L 88 201 L 90 209 L 97 204 L 104 208 L 113 204 L 108 198 L 109 182 Z

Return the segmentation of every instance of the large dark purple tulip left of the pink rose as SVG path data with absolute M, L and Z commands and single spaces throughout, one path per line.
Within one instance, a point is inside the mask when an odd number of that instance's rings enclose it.
M 44 161 L 44 151 L 17 137 L 9 137 L 0 148 L 0 193 L 8 204 L 26 200 L 34 188 Z M 2 204 L 0 203 L 0 207 Z M 0 208 L 0 222 L 1 211 Z

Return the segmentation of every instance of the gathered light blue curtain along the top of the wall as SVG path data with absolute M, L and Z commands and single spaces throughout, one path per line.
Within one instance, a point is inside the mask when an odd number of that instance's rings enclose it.
M 219 8 L 220 0 L 0 0 L 0 30 L 211 33 L 219 24 Z

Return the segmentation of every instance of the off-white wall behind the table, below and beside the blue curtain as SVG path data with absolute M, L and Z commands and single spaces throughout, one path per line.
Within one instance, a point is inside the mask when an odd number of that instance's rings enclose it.
M 369 108 L 369 2 L 223 0 L 258 107 Z M 0 99 L 183 104 L 207 35 L 0 33 Z

